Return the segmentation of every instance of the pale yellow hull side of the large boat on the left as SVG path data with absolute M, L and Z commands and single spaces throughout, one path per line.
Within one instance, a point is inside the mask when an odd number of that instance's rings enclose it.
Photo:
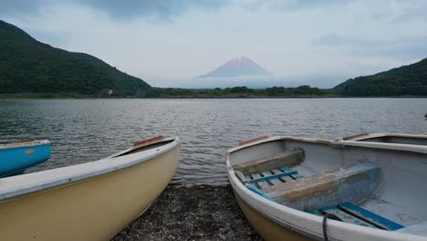
M 0 203 L 1 239 L 109 240 L 161 194 L 179 154 L 177 146 L 113 173 L 5 200 Z

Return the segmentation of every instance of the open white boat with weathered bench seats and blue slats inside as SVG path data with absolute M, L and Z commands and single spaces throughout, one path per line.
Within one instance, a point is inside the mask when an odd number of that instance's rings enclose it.
M 227 152 L 228 178 L 266 240 L 427 240 L 426 147 L 292 137 L 241 144 Z

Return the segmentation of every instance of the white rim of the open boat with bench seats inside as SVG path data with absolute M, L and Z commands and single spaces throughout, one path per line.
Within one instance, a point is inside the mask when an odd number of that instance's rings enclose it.
M 362 146 L 367 148 L 381 148 L 381 149 L 391 149 L 391 150 L 400 150 L 400 151 L 411 151 L 411 152 L 422 152 L 427 153 L 427 148 L 418 148 L 416 145 L 409 144 L 383 144 L 373 145 L 368 141 L 328 141 L 328 140 L 317 140 L 317 139 L 306 139 L 306 138 L 294 138 L 294 137 L 270 137 L 266 140 L 255 141 L 243 146 L 236 146 L 230 149 L 226 154 L 226 166 L 227 174 L 230 184 L 232 185 L 234 192 L 242 199 L 245 204 L 254 209 L 260 215 L 265 216 L 267 219 L 275 222 L 278 225 L 282 225 L 284 228 L 296 231 L 299 234 L 304 236 L 311 236 L 315 238 L 322 238 L 322 221 L 323 217 L 317 215 L 311 215 L 306 212 L 288 207 L 284 204 L 278 204 L 274 201 L 268 200 L 262 197 L 259 194 L 255 194 L 249 190 L 235 175 L 233 165 L 230 162 L 230 154 L 241 149 L 245 149 L 260 143 L 269 142 L 269 141 L 306 141 L 306 142 L 317 142 L 319 144 L 342 144 L 349 146 Z M 361 145 L 360 143 L 367 143 Z M 396 145 L 398 147 L 396 147 Z M 415 151 L 414 151 L 415 150 Z M 266 211 L 265 211 L 266 210 Z M 287 220 L 297 219 L 298 223 L 304 223 L 304 226 L 296 225 Z M 346 236 L 352 234 L 356 237 L 351 240 L 358 240 L 357 236 L 365 235 L 368 239 L 376 238 L 378 240 L 424 240 L 425 236 L 417 236 L 413 234 L 404 234 L 399 232 L 391 232 L 386 230 L 374 229 L 370 227 L 365 227 L 361 225 L 352 225 L 344 222 L 339 222 L 336 220 L 328 220 L 328 234 L 332 238 L 336 235 Z M 346 240 L 348 237 L 342 239 Z M 338 239 L 339 240 L 339 239 Z

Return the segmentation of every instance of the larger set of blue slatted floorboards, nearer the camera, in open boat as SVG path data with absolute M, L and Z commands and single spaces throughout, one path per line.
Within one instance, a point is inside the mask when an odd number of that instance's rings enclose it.
M 363 225 L 373 228 L 380 228 L 384 230 L 398 230 L 404 226 L 394 223 L 393 221 L 376 215 L 362 207 L 359 207 L 355 204 L 343 203 L 338 204 L 337 206 L 326 206 L 318 210 L 310 209 L 306 211 L 312 215 L 337 215 L 342 222 L 353 224 L 353 225 Z

